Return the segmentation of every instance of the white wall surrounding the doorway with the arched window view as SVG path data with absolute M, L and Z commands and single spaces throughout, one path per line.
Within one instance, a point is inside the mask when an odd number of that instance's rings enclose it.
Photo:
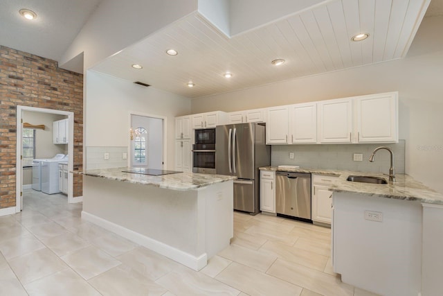
M 174 117 L 190 114 L 190 99 L 87 71 L 84 146 L 128 147 L 129 113 L 167 117 L 167 166 L 174 168 Z

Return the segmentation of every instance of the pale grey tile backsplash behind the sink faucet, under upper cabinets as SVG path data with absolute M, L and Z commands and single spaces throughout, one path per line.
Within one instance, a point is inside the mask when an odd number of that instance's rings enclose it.
M 394 153 L 394 168 L 397 173 L 405 171 L 405 140 L 388 144 L 343 144 L 343 145 L 273 145 L 271 165 L 298 165 L 302 168 L 326 168 L 367 173 L 388 173 L 390 153 L 379 150 L 375 161 L 369 162 L 374 148 L 387 146 Z M 295 154 L 289 159 L 289 153 Z M 363 153 L 363 162 L 354 162 L 354 153 Z

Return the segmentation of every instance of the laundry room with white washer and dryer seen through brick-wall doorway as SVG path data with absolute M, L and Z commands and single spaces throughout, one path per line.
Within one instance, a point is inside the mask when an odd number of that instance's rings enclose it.
M 62 193 L 59 166 L 68 164 L 67 116 L 23 111 L 23 189 Z

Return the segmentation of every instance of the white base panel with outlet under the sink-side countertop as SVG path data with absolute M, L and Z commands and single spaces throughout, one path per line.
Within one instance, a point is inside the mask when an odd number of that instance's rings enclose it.
M 341 192 L 333 199 L 333 266 L 342 281 L 380 295 L 419 295 L 422 204 Z

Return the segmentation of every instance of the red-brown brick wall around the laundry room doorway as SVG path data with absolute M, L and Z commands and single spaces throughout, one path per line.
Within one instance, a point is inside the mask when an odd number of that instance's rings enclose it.
M 83 76 L 0 45 L 0 209 L 15 206 L 17 105 L 73 112 L 73 168 L 82 170 Z M 81 195 L 82 177 L 74 175 L 73 196 Z

